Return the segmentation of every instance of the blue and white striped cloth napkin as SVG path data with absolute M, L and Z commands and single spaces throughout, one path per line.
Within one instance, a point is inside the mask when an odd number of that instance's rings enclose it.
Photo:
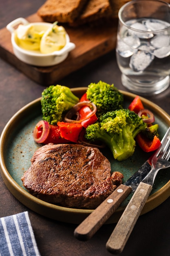
M 27 211 L 0 218 L 0 256 L 40 256 Z

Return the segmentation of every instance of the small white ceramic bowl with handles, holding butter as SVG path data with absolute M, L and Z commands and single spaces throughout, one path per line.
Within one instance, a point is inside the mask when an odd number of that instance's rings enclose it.
M 52 52 L 50 54 L 42 54 L 40 51 L 31 51 L 22 49 L 16 42 L 15 28 L 19 24 L 29 24 L 24 18 L 18 18 L 13 20 L 7 25 L 7 29 L 11 32 L 11 43 L 13 46 L 13 52 L 15 56 L 24 63 L 35 66 L 52 66 L 64 61 L 68 53 L 75 48 L 75 44 L 70 42 L 68 34 L 66 34 L 66 45 L 59 51 Z M 39 30 L 47 30 L 52 27 L 52 23 L 47 22 L 32 22 L 35 28 Z

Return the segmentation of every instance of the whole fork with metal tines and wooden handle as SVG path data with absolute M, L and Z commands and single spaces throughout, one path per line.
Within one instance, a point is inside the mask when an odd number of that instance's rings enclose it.
M 152 186 L 157 173 L 161 169 L 170 167 L 170 162 L 168 161 L 170 158 L 170 127 L 164 137 L 165 139 L 161 146 L 152 157 L 152 167 L 150 172 L 140 182 L 106 243 L 106 249 L 113 254 L 119 254 L 123 251 L 144 204 L 152 191 Z

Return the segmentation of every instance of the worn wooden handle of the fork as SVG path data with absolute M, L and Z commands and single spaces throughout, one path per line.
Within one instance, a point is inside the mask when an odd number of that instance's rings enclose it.
M 140 182 L 124 213 L 113 230 L 113 233 L 108 239 L 108 242 L 106 243 L 106 249 L 109 252 L 119 254 L 123 251 L 151 190 L 151 185 Z

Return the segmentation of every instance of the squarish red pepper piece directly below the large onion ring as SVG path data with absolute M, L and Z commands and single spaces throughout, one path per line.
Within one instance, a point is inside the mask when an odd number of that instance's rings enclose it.
M 82 124 L 57 122 L 57 126 L 60 127 L 61 137 L 75 143 L 78 142 L 79 133 L 83 129 Z

